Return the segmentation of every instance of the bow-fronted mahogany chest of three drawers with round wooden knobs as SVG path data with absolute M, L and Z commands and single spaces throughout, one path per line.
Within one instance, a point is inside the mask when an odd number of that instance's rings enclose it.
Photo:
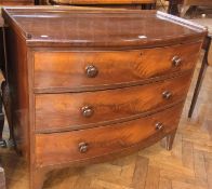
M 4 9 L 16 150 L 47 172 L 171 149 L 207 30 L 156 11 Z

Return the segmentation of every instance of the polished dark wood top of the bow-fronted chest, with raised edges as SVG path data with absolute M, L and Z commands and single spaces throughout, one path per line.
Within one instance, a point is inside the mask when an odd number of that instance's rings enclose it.
M 207 32 L 188 21 L 144 10 L 4 8 L 3 17 L 31 46 L 160 46 Z

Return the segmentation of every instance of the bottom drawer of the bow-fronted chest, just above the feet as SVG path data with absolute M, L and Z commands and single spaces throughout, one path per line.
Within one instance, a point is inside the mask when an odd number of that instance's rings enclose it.
M 137 145 L 150 136 L 168 133 L 177 126 L 182 107 L 181 104 L 151 116 L 108 126 L 37 134 L 37 165 L 102 157 Z

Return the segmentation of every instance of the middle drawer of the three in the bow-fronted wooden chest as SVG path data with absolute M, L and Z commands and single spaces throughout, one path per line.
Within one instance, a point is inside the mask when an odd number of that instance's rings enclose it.
M 132 87 L 36 95 L 36 129 L 82 129 L 163 108 L 183 100 L 190 75 Z

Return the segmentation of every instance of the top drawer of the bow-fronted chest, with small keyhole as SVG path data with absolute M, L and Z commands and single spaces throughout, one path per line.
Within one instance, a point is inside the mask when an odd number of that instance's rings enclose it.
M 201 43 L 120 52 L 36 52 L 36 90 L 88 90 L 193 69 Z

